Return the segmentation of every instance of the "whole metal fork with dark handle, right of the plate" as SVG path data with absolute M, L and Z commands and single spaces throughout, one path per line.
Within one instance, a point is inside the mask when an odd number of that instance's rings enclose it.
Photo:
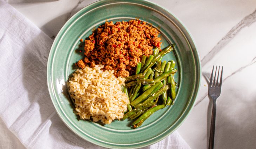
M 213 80 L 213 73 L 214 73 L 214 66 L 213 66 L 210 82 L 208 85 L 208 94 L 211 97 L 211 99 L 213 99 L 213 111 L 211 112 L 211 130 L 210 130 L 210 138 L 209 138 L 209 149 L 213 149 L 213 146 L 214 146 L 216 100 L 221 95 L 222 72 L 223 72 L 223 66 L 221 68 L 221 77 L 220 77 L 220 83 L 219 83 L 218 79 L 220 74 L 220 66 L 218 68 L 217 79 L 216 79 L 216 73 L 217 73 L 217 66 L 216 66 L 214 80 Z

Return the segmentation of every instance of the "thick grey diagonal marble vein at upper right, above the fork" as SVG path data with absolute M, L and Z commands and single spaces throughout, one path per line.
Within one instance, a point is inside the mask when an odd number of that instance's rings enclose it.
M 201 66 L 203 67 L 209 59 L 212 59 L 216 53 L 220 52 L 222 48 L 232 40 L 237 33 L 246 26 L 250 26 L 256 22 L 256 9 L 253 13 L 245 16 L 238 24 L 236 24 L 218 43 L 208 52 L 201 60 Z

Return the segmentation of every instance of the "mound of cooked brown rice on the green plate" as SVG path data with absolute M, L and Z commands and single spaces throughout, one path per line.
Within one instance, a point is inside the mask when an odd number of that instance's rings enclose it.
M 116 78 L 114 70 L 103 71 L 103 65 L 77 69 L 68 81 L 71 97 L 75 100 L 76 114 L 110 124 L 121 119 L 127 110 L 129 99 L 121 90 L 124 78 Z

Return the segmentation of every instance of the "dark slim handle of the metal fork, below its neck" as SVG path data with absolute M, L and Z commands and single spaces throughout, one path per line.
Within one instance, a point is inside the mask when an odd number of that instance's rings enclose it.
M 211 129 L 210 129 L 209 149 L 213 149 L 213 146 L 214 146 L 215 117 L 216 117 L 216 99 L 213 99 L 213 111 L 211 112 Z

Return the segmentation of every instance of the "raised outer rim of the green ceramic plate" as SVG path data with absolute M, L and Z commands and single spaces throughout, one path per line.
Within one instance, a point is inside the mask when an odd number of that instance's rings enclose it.
M 61 36 L 61 32 L 65 32 L 65 27 L 67 24 L 70 23 L 71 20 L 73 20 L 74 17 L 76 17 L 76 15 L 78 15 L 79 13 L 81 13 L 84 9 L 87 9 L 88 7 L 91 7 L 93 5 L 96 5 L 97 3 L 105 3 L 105 2 L 120 2 L 119 0 L 99 0 L 99 1 L 95 1 L 93 3 L 90 3 L 89 5 L 87 5 L 86 7 L 83 7 L 81 10 L 79 10 L 78 12 L 76 12 L 72 17 L 69 18 L 69 20 L 62 26 L 62 28 L 60 29 L 60 31 L 58 32 L 57 36 L 55 37 L 55 39 L 59 38 L 59 36 Z M 127 0 L 126 2 L 129 2 L 129 1 L 132 1 L 134 3 L 133 0 Z M 199 57 L 199 54 L 198 54 L 198 51 L 197 51 L 197 48 L 196 48 L 196 44 L 195 44 L 195 41 L 193 39 L 193 36 L 191 36 L 190 32 L 188 31 L 188 29 L 186 28 L 186 26 L 172 13 L 170 13 L 167 9 L 163 8 L 162 6 L 154 3 L 154 2 L 150 2 L 150 1 L 146 1 L 146 0 L 137 0 L 139 2 L 144 2 L 144 5 L 145 4 L 151 4 L 151 5 L 155 5 L 156 7 L 159 7 L 160 9 L 164 10 L 164 12 L 161 12 L 161 13 L 164 13 L 164 15 L 167 14 L 168 15 L 171 15 L 173 16 L 178 23 L 180 23 L 182 25 L 182 27 L 184 28 L 183 30 L 181 29 L 182 33 L 184 33 L 184 37 L 186 37 L 186 40 L 187 42 L 189 43 L 189 46 L 191 47 L 192 50 L 192 53 L 193 53 L 193 61 L 195 62 L 195 85 L 194 85 L 194 89 L 193 89 L 193 94 L 191 94 L 190 96 L 190 100 L 188 102 L 188 105 L 185 107 L 185 109 L 182 111 L 182 115 L 179 117 L 180 119 L 180 122 L 178 125 L 176 125 L 174 127 L 174 129 L 172 131 L 169 131 L 168 133 L 163 133 L 160 135 L 160 137 L 158 137 L 157 139 L 155 139 L 155 141 L 151 141 L 151 142 L 148 142 L 146 145 L 145 144 L 136 144 L 135 146 L 136 147 L 132 147 L 132 148 L 142 148 L 142 147 L 147 147 L 147 146 L 150 146 L 151 144 L 155 144 L 161 140 L 163 140 L 164 138 L 166 138 L 167 136 L 169 136 L 171 133 L 173 133 L 174 131 L 176 131 L 176 129 L 178 127 L 180 127 L 181 124 L 183 124 L 183 122 L 186 120 L 186 118 L 188 117 L 189 113 L 192 111 L 193 107 L 194 107 L 194 104 L 195 104 L 195 101 L 196 101 L 196 98 L 198 96 L 198 92 L 200 90 L 200 86 L 201 86 L 201 61 L 200 61 L 200 57 Z M 136 3 L 137 3 L 136 1 Z M 142 5 L 141 3 L 139 3 L 139 5 Z M 155 9 L 155 8 L 153 8 Z M 168 16 L 169 18 L 169 16 Z M 171 20 L 171 18 L 170 18 Z M 175 22 L 176 24 L 176 22 Z M 179 28 L 180 29 L 180 28 Z M 188 34 L 186 36 L 186 33 Z M 60 37 L 61 38 L 61 37 Z M 51 49 L 50 49 L 50 52 L 49 52 L 49 55 L 48 55 L 48 60 L 47 60 L 47 88 L 48 88 L 48 92 L 49 92 L 49 95 L 50 95 L 50 98 L 52 100 L 52 103 L 54 105 L 54 108 L 56 110 L 56 113 L 58 114 L 58 116 L 60 117 L 60 119 L 64 122 L 64 124 L 72 131 L 74 132 L 76 135 L 78 135 L 79 137 L 81 137 L 82 139 L 88 141 L 88 142 L 91 142 L 93 144 L 96 144 L 97 146 L 101 146 L 101 147 L 111 147 L 111 148 L 117 148 L 115 146 L 112 146 L 112 145 L 109 145 L 109 144 L 103 144 L 103 143 L 99 143 L 97 141 L 94 141 L 94 140 L 90 140 L 90 139 L 86 139 L 84 138 L 83 136 L 81 136 L 80 134 L 76 133 L 73 128 L 71 128 L 69 125 L 74 125 L 72 123 L 68 123 L 66 121 L 66 119 L 64 119 L 62 116 L 60 116 L 60 112 L 64 113 L 62 110 L 58 109 L 59 105 L 55 103 L 54 100 L 56 100 L 55 98 L 55 95 L 53 94 L 53 87 L 52 87 L 52 77 L 50 75 L 50 64 L 52 64 L 51 62 L 51 59 L 49 59 L 49 56 L 50 55 L 53 55 L 55 51 L 53 51 L 53 49 L 56 48 L 56 40 L 54 40 L 52 46 L 51 46 Z M 194 99 L 194 100 L 192 100 Z M 58 108 L 57 108 L 58 107 Z M 182 118 L 182 119 L 181 119 Z M 176 123 L 176 122 L 175 122 Z M 74 127 L 74 126 L 73 126 Z M 120 147 L 119 147 L 120 148 Z M 126 148 L 126 147 L 121 147 L 121 148 Z M 129 147 L 130 148 L 130 147 Z

